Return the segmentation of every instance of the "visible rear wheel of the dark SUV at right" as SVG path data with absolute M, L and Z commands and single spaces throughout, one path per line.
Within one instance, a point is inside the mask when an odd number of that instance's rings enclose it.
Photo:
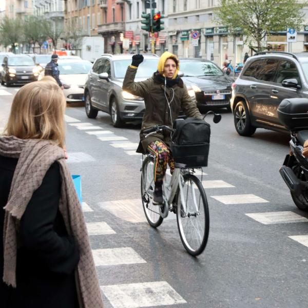
M 236 131 L 241 136 L 252 136 L 256 131 L 256 127 L 251 124 L 248 108 L 242 101 L 236 104 L 234 110 L 234 125 Z

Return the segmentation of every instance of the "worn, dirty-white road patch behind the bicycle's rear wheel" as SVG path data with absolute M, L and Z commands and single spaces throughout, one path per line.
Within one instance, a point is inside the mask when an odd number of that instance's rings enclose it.
M 120 219 L 131 223 L 147 222 L 141 199 L 126 199 L 100 202 L 99 206 Z M 165 220 L 176 219 L 176 215 L 169 213 Z

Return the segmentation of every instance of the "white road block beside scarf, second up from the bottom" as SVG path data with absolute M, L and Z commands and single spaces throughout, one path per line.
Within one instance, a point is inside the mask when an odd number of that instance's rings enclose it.
M 131 247 L 92 250 L 96 266 L 146 263 Z

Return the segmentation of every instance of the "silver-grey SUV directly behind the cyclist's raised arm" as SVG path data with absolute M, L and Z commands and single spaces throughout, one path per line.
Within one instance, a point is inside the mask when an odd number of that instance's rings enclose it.
M 85 108 L 88 118 L 97 117 L 99 110 L 111 115 L 114 127 L 124 122 L 142 120 L 145 105 L 143 98 L 122 90 L 131 54 L 103 54 L 93 64 L 85 84 Z M 135 81 L 143 81 L 157 71 L 159 57 L 144 54 Z M 187 85 L 188 93 L 196 102 L 195 91 Z

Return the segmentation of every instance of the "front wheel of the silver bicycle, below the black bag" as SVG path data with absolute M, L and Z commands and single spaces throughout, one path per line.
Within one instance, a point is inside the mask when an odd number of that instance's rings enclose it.
M 208 205 L 200 180 L 191 174 L 184 175 L 183 180 L 182 197 L 180 189 L 177 194 L 178 228 L 186 251 L 198 256 L 204 251 L 208 238 Z

